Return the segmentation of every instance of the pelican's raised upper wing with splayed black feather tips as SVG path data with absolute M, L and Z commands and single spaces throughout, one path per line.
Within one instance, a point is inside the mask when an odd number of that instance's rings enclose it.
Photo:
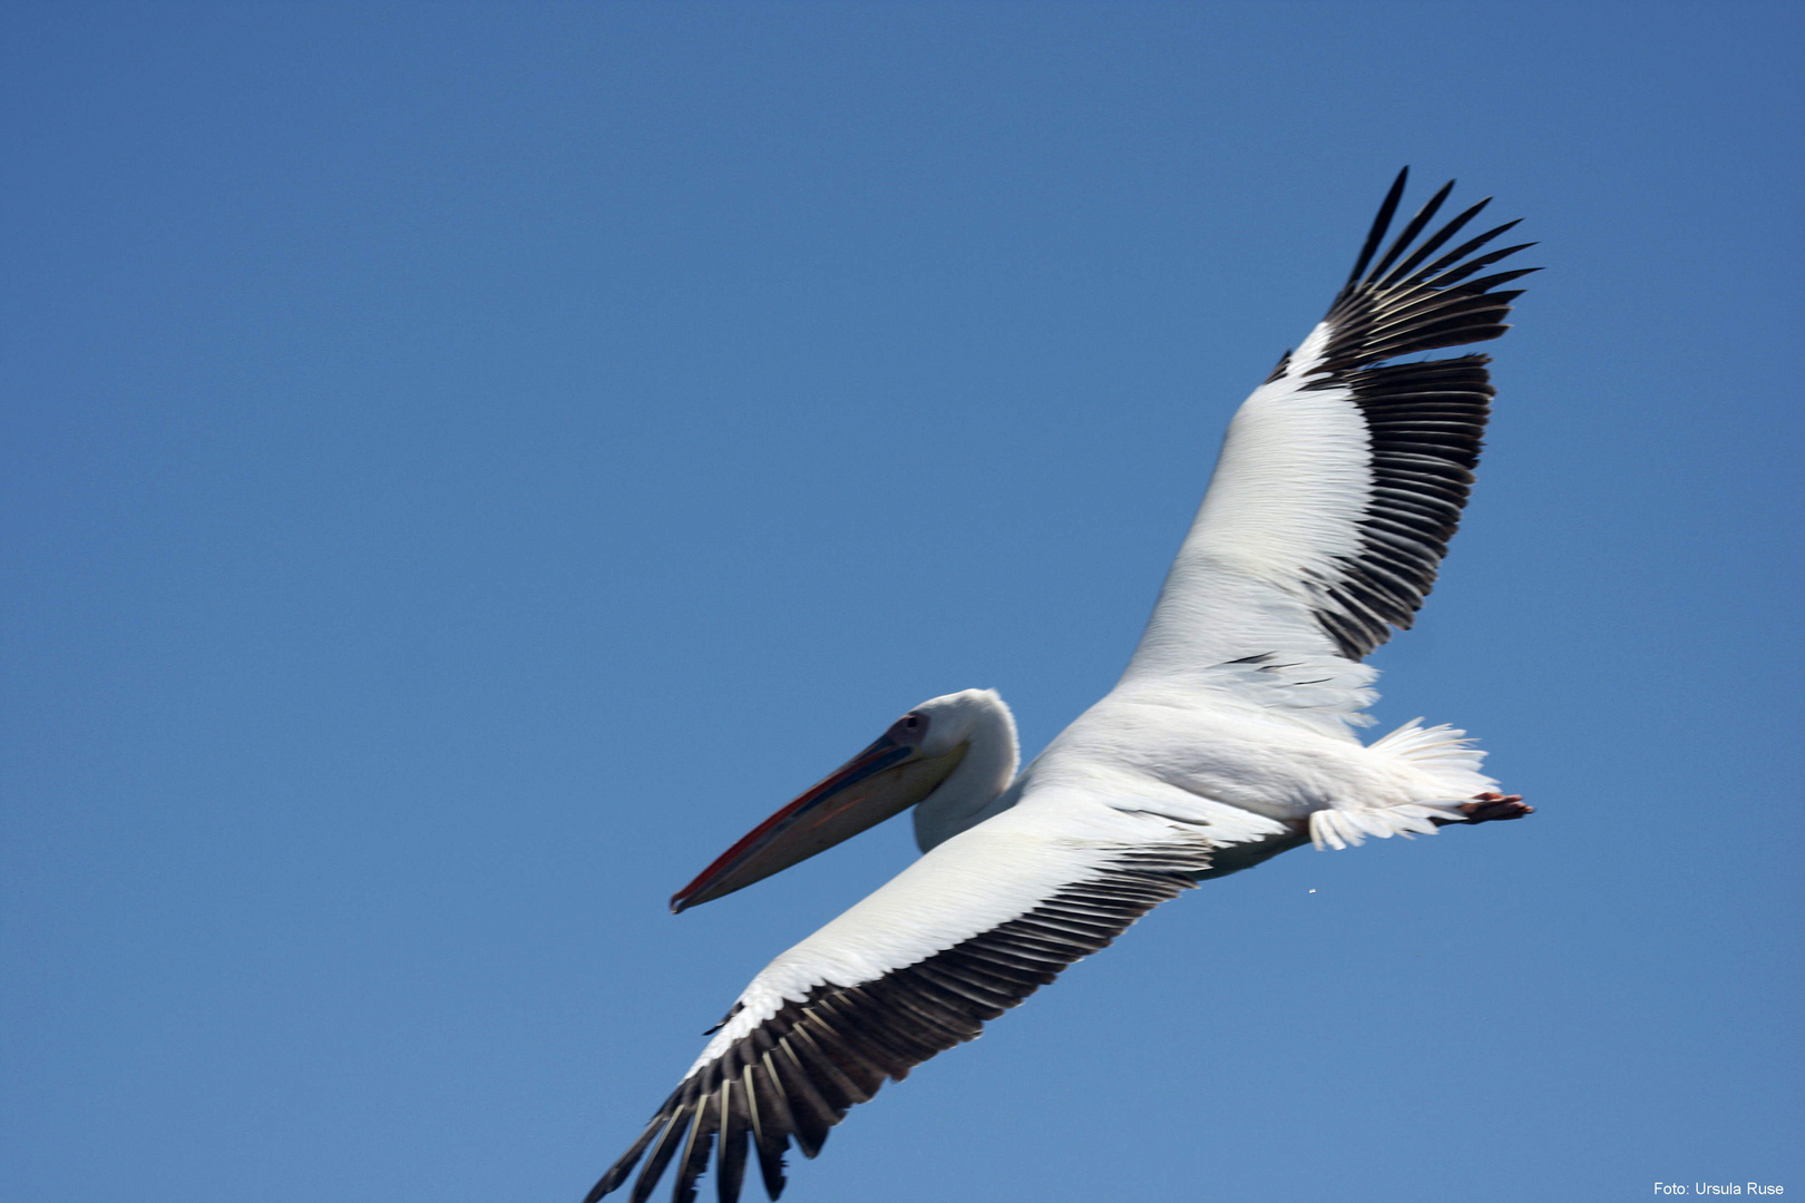
M 1505 332 L 1534 243 L 1430 229 L 1449 180 L 1381 254 L 1404 177 L 1328 316 L 1236 411 L 1125 680 L 1265 653 L 1359 660 L 1408 628 L 1460 521 L 1493 388 L 1486 355 L 1384 364 Z M 1419 242 L 1419 238 L 1422 238 Z M 1449 243 L 1457 243 L 1451 245 Z

